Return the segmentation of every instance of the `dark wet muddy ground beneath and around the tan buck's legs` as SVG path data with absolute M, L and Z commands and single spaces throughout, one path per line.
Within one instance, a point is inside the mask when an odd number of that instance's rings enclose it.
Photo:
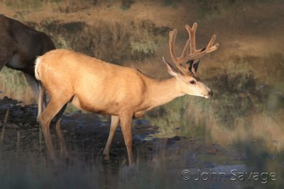
M 42 154 L 48 157 L 40 126 L 36 122 L 36 114 L 36 105 L 25 105 L 11 98 L 0 100 L 2 152 Z M 147 161 L 156 156 L 182 156 L 182 154 L 196 156 L 200 153 L 235 156 L 234 159 L 244 158 L 242 154 L 238 153 L 236 156 L 216 144 L 199 144 L 192 137 L 157 138 L 155 137 L 155 133 L 159 132 L 157 126 L 151 125 L 146 120 L 133 120 L 133 122 L 135 123 L 133 125 L 133 150 L 136 154 L 136 161 Z M 98 115 L 92 113 L 77 111 L 65 114 L 61 128 L 71 158 L 99 159 L 104 164 L 126 164 L 127 153 L 120 128 L 116 131 L 111 146 L 111 159 L 105 161 L 102 158 L 102 151 L 109 134 L 109 124 L 110 122 L 102 121 Z M 53 126 L 51 126 L 53 144 L 60 156 L 60 146 Z

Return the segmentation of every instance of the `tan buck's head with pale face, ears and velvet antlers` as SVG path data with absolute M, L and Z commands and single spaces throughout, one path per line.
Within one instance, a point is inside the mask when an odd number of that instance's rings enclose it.
M 180 57 L 176 57 L 175 55 L 175 36 L 177 35 L 176 29 L 170 31 L 170 56 L 173 59 L 175 67 L 178 71 L 170 66 L 170 64 L 163 57 L 163 62 L 168 69 L 168 73 L 178 81 L 179 88 L 182 90 L 182 93 L 189 94 L 192 96 L 202 96 L 204 98 L 209 98 L 213 95 L 213 92 L 210 88 L 205 86 L 197 76 L 197 69 L 200 63 L 201 57 L 208 54 L 209 52 L 213 52 L 217 50 L 219 44 L 214 44 L 216 39 L 216 35 L 213 35 L 211 40 L 209 41 L 207 47 L 196 50 L 195 46 L 195 31 L 197 28 L 197 23 L 194 23 L 192 28 L 189 25 L 185 25 L 185 29 L 188 32 L 189 39 L 185 43 L 185 47 L 182 50 L 182 55 Z M 182 65 L 185 64 L 185 67 Z

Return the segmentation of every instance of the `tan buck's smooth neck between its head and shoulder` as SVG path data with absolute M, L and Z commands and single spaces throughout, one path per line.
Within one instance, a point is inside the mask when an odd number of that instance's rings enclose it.
M 149 103 L 151 108 L 158 105 L 163 105 L 173 99 L 185 95 L 179 88 L 178 81 L 175 77 L 164 80 L 154 80 L 151 85 L 148 86 Z

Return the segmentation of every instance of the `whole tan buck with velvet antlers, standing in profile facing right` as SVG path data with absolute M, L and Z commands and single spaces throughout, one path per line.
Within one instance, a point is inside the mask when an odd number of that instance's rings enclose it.
M 103 153 L 105 159 L 109 159 L 111 141 L 120 123 L 131 165 L 134 164 L 131 134 L 133 117 L 141 117 L 147 110 L 185 94 L 204 98 L 212 96 L 212 91 L 198 79 L 196 71 L 200 58 L 217 50 L 218 44 L 214 45 L 216 35 L 212 36 L 207 47 L 197 50 L 197 23 L 194 23 L 192 28 L 185 25 L 185 28 L 189 39 L 180 57 L 175 55 L 177 30 L 170 32 L 170 55 L 178 71 L 163 59 L 168 73 L 173 76 L 165 80 L 151 79 L 136 69 L 109 64 L 70 50 L 53 50 L 38 57 L 35 77 L 51 98 L 40 115 L 50 157 L 55 159 L 50 137 L 50 121 L 56 114 L 63 112 L 62 108 L 65 108 L 68 102 L 82 110 L 111 115 L 109 137 Z M 185 67 L 182 63 L 186 63 Z M 60 120 L 57 125 L 59 122 Z

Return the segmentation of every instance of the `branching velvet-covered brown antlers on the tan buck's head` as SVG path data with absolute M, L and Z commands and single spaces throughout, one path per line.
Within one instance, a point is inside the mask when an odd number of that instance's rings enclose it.
M 217 47 L 219 46 L 218 43 L 213 45 L 214 41 L 216 40 L 216 35 L 213 35 L 206 48 L 196 50 L 196 44 L 195 44 L 196 28 L 197 28 L 197 23 L 194 23 L 192 25 L 192 28 L 190 28 L 189 25 L 185 25 L 185 29 L 187 30 L 189 35 L 189 39 L 185 43 L 185 47 L 183 48 L 182 55 L 180 57 L 177 57 L 175 55 L 175 36 L 177 35 L 178 30 L 174 29 L 173 31 L 170 31 L 170 40 L 169 40 L 170 56 L 172 57 L 175 66 L 182 72 L 182 74 L 185 75 L 193 74 L 194 76 L 196 76 L 195 69 L 193 67 L 195 61 L 190 62 L 190 60 L 200 59 L 209 52 L 217 50 Z M 189 48 L 190 48 L 190 55 L 188 55 Z M 182 63 L 185 62 L 187 62 L 187 64 L 185 65 L 185 67 L 183 67 Z

